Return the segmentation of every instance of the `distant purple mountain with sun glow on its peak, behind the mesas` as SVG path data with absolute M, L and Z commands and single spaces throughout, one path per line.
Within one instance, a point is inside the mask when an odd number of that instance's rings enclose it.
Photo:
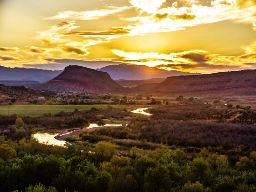
M 164 70 L 156 67 L 148 67 L 146 65 L 109 65 L 100 69 L 98 71 L 107 72 L 112 79 L 127 79 L 127 80 L 145 80 L 152 78 L 167 78 L 170 76 L 180 76 L 180 75 L 199 75 L 199 73 L 185 73 L 175 70 Z

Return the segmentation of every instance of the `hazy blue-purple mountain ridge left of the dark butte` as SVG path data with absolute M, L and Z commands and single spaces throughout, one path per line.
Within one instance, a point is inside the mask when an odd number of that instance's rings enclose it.
M 44 83 L 58 76 L 63 70 L 51 71 L 35 68 L 9 68 L 0 66 L 2 81 L 39 81 Z

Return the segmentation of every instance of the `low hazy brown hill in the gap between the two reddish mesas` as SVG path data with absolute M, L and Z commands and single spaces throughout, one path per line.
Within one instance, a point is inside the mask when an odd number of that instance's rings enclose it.
M 152 84 L 152 83 L 161 83 L 165 79 L 164 78 L 153 78 L 148 80 L 126 80 L 126 79 L 118 79 L 115 80 L 116 83 L 122 85 L 123 87 L 136 87 L 142 84 Z

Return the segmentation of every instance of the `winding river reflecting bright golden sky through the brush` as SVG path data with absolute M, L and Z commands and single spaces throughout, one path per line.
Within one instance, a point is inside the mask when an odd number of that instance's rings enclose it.
M 142 115 L 146 115 L 146 116 L 150 116 L 150 113 L 144 112 L 144 110 L 146 110 L 148 108 L 138 108 L 136 110 L 131 111 L 132 113 L 140 113 Z M 58 131 L 54 131 L 54 130 L 44 130 L 44 131 L 39 131 L 36 134 L 33 134 L 32 137 L 36 138 L 39 142 L 41 143 L 48 143 L 50 145 L 58 145 L 58 146 L 64 146 L 65 144 L 67 144 L 68 142 L 64 141 L 64 140 L 57 140 L 55 139 L 55 137 L 58 136 L 62 136 L 65 134 L 70 134 L 76 130 L 79 129 L 90 129 L 90 128 L 95 128 L 95 127 L 103 127 L 103 126 L 122 126 L 122 124 L 105 124 L 105 125 L 97 125 L 97 124 L 89 124 L 88 127 L 86 128 L 74 128 L 74 129 L 67 129 L 66 131 L 63 132 L 58 132 Z

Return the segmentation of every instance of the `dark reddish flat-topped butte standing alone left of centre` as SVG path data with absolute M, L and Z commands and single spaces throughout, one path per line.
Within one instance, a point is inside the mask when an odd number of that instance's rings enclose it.
M 126 89 L 117 84 L 108 73 L 95 69 L 69 65 L 46 84 L 33 87 L 50 91 L 77 91 L 90 93 L 123 93 Z

